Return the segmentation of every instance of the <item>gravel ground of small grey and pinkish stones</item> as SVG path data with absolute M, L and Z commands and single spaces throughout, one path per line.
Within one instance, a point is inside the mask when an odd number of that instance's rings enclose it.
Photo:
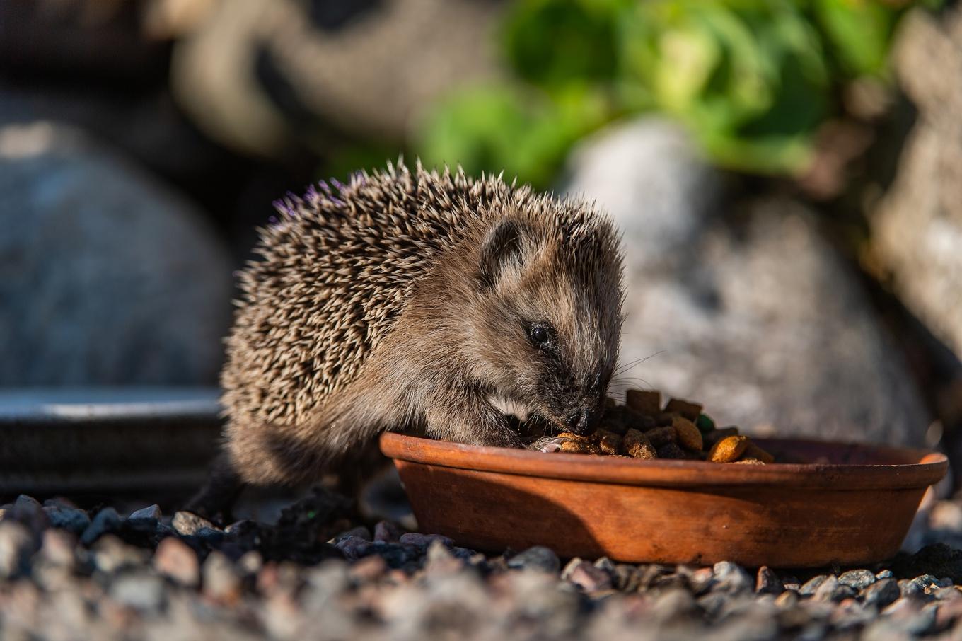
M 372 532 L 322 490 L 224 529 L 21 496 L 0 507 L 0 638 L 960 639 L 962 506 L 926 520 L 916 554 L 790 573 L 485 555 Z

